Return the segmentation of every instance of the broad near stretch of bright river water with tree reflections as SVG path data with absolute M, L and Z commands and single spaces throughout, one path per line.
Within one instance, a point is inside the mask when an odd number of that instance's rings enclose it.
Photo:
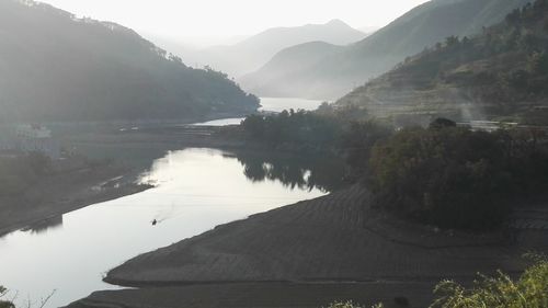
M 101 278 L 122 262 L 220 224 L 324 195 L 341 184 L 343 169 L 332 158 L 247 151 L 93 150 L 92 156 L 148 161 L 140 181 L 156 187 L 0 238 L 0 284 L 21 306 L 54 290 L 46 307 L 116 288 Z

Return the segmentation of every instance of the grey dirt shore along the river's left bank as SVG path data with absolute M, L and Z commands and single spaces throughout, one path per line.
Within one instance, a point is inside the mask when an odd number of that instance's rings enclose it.
M 24 195 L 0 198 L 0 237 L 95 203 L 150 189 L 134 180 L 129 170 L 114 164 L 45 176 Z

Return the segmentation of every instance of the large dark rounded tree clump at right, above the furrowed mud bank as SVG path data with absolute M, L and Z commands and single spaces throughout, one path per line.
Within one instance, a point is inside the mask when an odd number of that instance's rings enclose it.
M 546 161 L 527 134 L 406 128 L 373 148 L 369 181 L 376 203 L 396 214 L 489 229 L 506 217 L 509 198 L 546 189 Z

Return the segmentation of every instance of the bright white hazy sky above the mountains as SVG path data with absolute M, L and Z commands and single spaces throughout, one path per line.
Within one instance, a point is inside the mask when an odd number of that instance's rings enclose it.
M 340 19 L 383 26 L 427 0 L 43 0 L 79 16 L 170 38 L 255 34 Z

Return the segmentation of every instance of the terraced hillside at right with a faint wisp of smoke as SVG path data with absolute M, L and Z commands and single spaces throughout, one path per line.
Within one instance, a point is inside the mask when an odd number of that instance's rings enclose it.
M 472 38 L 448 37 L 336 102 L 375 116 L 548 124 L 548 0 Z M 411 116 L 412 115 L 412 116 Z

